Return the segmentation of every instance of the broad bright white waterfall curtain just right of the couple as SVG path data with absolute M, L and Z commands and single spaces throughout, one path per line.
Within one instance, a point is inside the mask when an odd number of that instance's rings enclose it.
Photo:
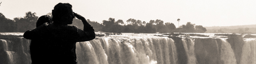
M 176 64 L 177 61 L 174 41 L 168 37 L 98 37 L 77 43 L 76 54 L 80 64 Z

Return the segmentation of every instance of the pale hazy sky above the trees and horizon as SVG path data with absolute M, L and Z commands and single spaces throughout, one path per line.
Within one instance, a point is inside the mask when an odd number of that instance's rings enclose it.
M 187 22 L 204 27 L 256 24 L 256 0 L 0 0 L 6 18 L 37 16 L 52 12 L 58 3 L 70 3 L 73 11 L 91 21 L 132 18 L 149 22 L 163 20 L 178 27 Z

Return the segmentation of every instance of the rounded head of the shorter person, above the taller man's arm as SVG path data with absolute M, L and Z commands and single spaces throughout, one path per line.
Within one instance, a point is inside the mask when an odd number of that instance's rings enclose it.
M 43 15 L 39 17 L 36 22 L 36 28 L 43 25 L 44 23 L 52 23 L 52 18 L 48 15 Z

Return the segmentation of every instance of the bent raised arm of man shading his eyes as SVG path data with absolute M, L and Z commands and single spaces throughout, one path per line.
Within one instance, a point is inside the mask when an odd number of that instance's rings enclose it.
M 74 16 L 77 19 L 82 20 L 82 22 L 84 24 L 84 31 L 80 31 L 80 29 L 78 30 L 80 37 L 77 40 L 77 42 L 89 41 L 89 40 L 94 39 L 95 33 L 94 33 L 94 29 L 92 28 L 92 26 L 86 21 L 86 19 L 83 16 L 81 16 L 75 12 L 73 12 L 73 13 L 74 13 Z

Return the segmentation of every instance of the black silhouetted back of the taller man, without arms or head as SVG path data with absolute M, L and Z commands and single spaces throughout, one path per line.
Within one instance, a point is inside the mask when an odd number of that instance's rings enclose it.
M 79 39 L 78 30 L 74 26 L 63 26 L 49 24 L 46 27 L 49 30 L 49 60 L 54 60 L 51 63 L 76 63 L 76 42 Z M 70 61 L 73 60 L 73 61 Z

